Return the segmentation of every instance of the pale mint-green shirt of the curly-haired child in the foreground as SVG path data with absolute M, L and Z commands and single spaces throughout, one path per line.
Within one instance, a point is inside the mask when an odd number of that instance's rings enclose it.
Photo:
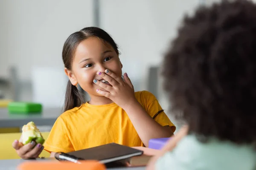
M 189 135 L 155 166 L 156 170 L 256 170 L 256 150 L 253 146 L 216 139 L 201 143 Z

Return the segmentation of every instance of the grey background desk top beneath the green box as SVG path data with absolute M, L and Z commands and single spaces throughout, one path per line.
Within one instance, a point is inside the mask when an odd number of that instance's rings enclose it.
M 46 108 L 42 113 L 10 114 L 7 108 L 0 108 L 0 128 L 22 127 L 30 121 L 35 122 L 37 126 L 52 126 L 61 113 L 61 108 Z

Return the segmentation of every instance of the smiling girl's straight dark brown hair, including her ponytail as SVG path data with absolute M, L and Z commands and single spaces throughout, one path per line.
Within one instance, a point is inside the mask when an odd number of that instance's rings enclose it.
M 119 54 L 118 46 L 116 45 L 116 42 L 112 39 L 112 37 L 107 32 L 97 27 L 86 27 L 81 29 L 80 31 L 77 31 L 71 34 L 67 38 L 66 42 L 64 43 L 63 51 L 62 51 L 62 59 L 63 59 L 65 68 L 67 68 L 68 70 L 72 70 L 72 62 L 73 62 L 73 57 L 74 57 L 77 45 L 79 45 L 80 42 L 82 42 L 83 40 L 86 40 L 89 37 L 98 37 L 103 42 L 111 45 L 113 49 L 116 51 L 116 53 Z M 68 111 L 75 107 L 79 107 L 84 102 L 85 102 L 84 97 L 79 93 L 76 86 L 72 85 L 71 82 L 68 81 L 66 96 L 65 96 L 64 111 Z

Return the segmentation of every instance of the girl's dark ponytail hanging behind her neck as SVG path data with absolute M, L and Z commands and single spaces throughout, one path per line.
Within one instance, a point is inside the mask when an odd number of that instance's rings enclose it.
M 76 86 L 72 85 L 70 81 L 67 82 L 67 90 L 65 96 L 64 112 L 70 109 L 81 106 L 84 103 L 83 96 L 79 93 Z

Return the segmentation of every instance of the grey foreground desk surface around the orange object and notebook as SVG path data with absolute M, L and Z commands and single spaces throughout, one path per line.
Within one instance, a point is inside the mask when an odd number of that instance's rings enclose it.
M 35 161 L 35 160 L 24 160 L 24 159 L 0 160 L 0 170 L 17 170 L 17 166 L 20 163 L 25 161 Z M 46 160 L 40 159 L 40 161 L 46 161 Z M 145 167 L 120 167 L 120 168 L 109 168 L 108 170 L 145 170 Z

